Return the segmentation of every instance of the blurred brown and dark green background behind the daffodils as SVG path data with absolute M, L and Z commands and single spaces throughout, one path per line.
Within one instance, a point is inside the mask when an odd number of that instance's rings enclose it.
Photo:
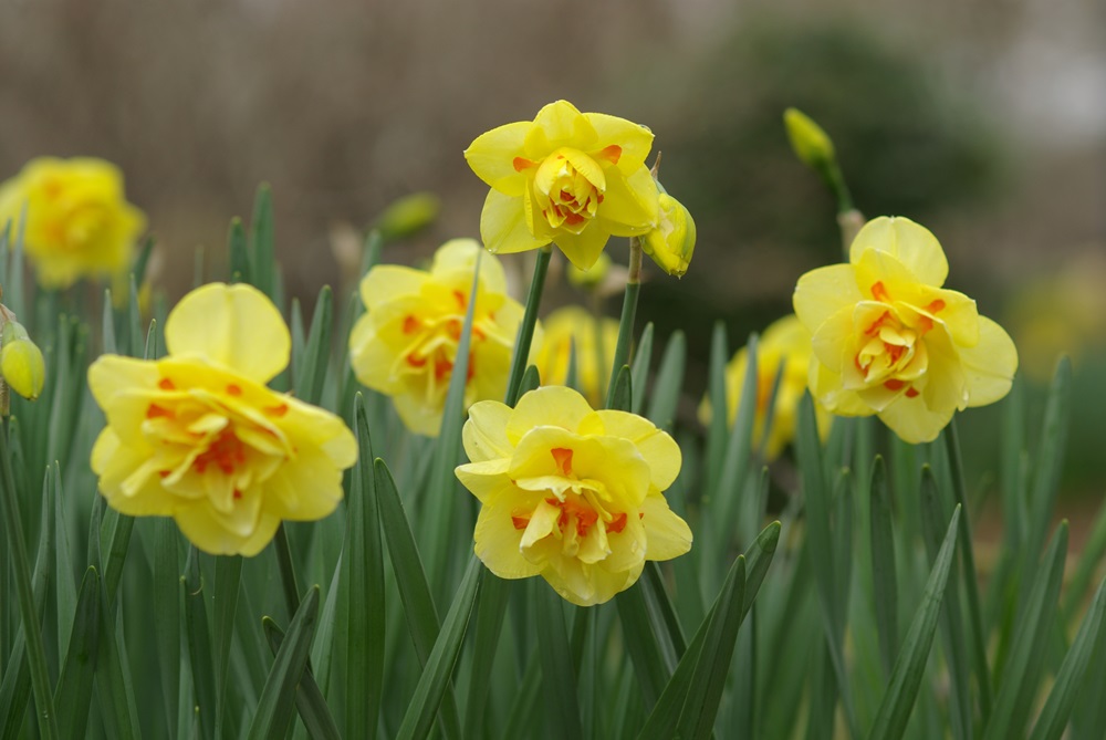
M 651 270 L 639 313 L 661 338 L 687 332 L 691 396 L 716 320 L 735 347 L 790 310 L 800 274 L 839 260 L 834 204 L 781 125 L 794 105 L 834 138 L 866 215 L 938 236 L 950 286 L 1010 330 L 1029 379 L 1075 356 L 1068 486 L 1100 496 L 1097 0 L 0 3 L 0 179 L 40 155 L 117 163 L 174 299 L 197 247 L 225 263 L 228 221 L 263 180 L 291 295 L 338 281 L 335 244 L 411 191 L 438 194 L 441 217 L 387 260 L 478 236 L 487 189 L 461 152 L 557 97 L 653 128 L 661 178 L 696 218 L 690 271 Z M 567 300 L 582 298 L 554 288 L 546 305 Z

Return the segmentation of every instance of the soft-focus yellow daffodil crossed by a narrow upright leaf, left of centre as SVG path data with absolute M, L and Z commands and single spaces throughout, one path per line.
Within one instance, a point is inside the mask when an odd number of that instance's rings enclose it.
M 453 239 L 434 256 L 429 272 L 385 264 L 361 282 L 368 312 L 349 335 L 354 373 L 363 385 L 392 396 L 411 431 L 436 437 L 457 359 L 457 344 L 481 252 L 472 239 Z M 472 314 L 465 407 L 502 398 L 511 371 L 522 306 L 507 295 L 503 267 L 492 254 L 480 260 Z M 535 330 L 534 346 L 541 343 Z

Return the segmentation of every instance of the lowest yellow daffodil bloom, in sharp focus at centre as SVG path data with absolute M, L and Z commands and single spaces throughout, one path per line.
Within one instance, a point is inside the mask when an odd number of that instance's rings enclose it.
M 482 504 L 476 553 L 501 579 L 541 575 L 573 604 L 602 604 L 632 586 L 647 560 L 691 549 L 691 530 L 664 491 L 680 448 L 626 411 L 594 411 L 559 386 L 515 408 L 482 402 L 463 430 L 457 477 Z

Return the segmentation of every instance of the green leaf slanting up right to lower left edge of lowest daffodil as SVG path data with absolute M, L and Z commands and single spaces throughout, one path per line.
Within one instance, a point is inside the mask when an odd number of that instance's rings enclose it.
M 461 643 L 465 639 L 469 616 L 472 614 L 472 606 L 477 602 L 480 587 L 480 576 L 484 569 L 476 555 L 469 559 L 468 570 L 465 579 L 457 588 L 453 603 L 446 614 L 446 621 L 441 625 L 441 633 L 434 644 L 434 650 L 426 665 L 422 666 L 422 675 L 415 687 L 415 695 L 407 706 L 407 713 L 404 716 L 403 725 L 396 734 L 398 740 L 421 740 L 430 734 L 434 727 L 434 718 L 438 713 L 438 707 L 446 696 L 449 687 L 449 677 L 453 673 L 453 664 L 460 653 Z

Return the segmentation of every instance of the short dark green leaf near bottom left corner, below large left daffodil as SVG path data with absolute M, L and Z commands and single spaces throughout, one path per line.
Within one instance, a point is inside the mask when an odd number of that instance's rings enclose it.
M 62 738 L 83 738 L 88 731 L 98 639 L 100 574 L 95 566 L 90 565 L 81 582 L 69 652 L 54 691 L 54 706 L 59 711 L 58 730 Z

